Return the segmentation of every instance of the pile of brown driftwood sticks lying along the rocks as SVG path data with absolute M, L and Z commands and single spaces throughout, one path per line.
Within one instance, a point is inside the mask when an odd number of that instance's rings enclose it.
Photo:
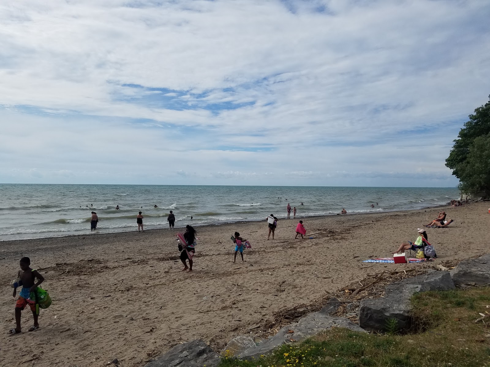
M 255 328 L 260 330 L 256 335 L 273 335 L 281 327 L 297 321 L 311 312 L 319 311 L 328 304 L 330 298 L 337 298 L 342 303 L 334 316 L 346 317 L 354 323 L 359 323 L 359 301 L 361 299 L 383 297 L 387 284 L 425 274 L 431 267 L 429 264 L 420 264 L 417 267 L 401 271 L 385 270 L 368 274 L 364 279 L 353 282 L 346 287 L 341 287 L 336 292 L 327 292 L 322 298 L 314 302 L 295 304 L 289 308 L 279 309 L 273 314 L 273 320 L 267 320 L 260 325 L 256 325 Z

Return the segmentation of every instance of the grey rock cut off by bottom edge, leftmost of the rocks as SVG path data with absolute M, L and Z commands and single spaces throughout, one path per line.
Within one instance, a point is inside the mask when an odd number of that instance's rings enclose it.
M 216 367 L 220 356 L 202 340 L 175 345 L 163 356 L 149 362 L 146 367 Z

